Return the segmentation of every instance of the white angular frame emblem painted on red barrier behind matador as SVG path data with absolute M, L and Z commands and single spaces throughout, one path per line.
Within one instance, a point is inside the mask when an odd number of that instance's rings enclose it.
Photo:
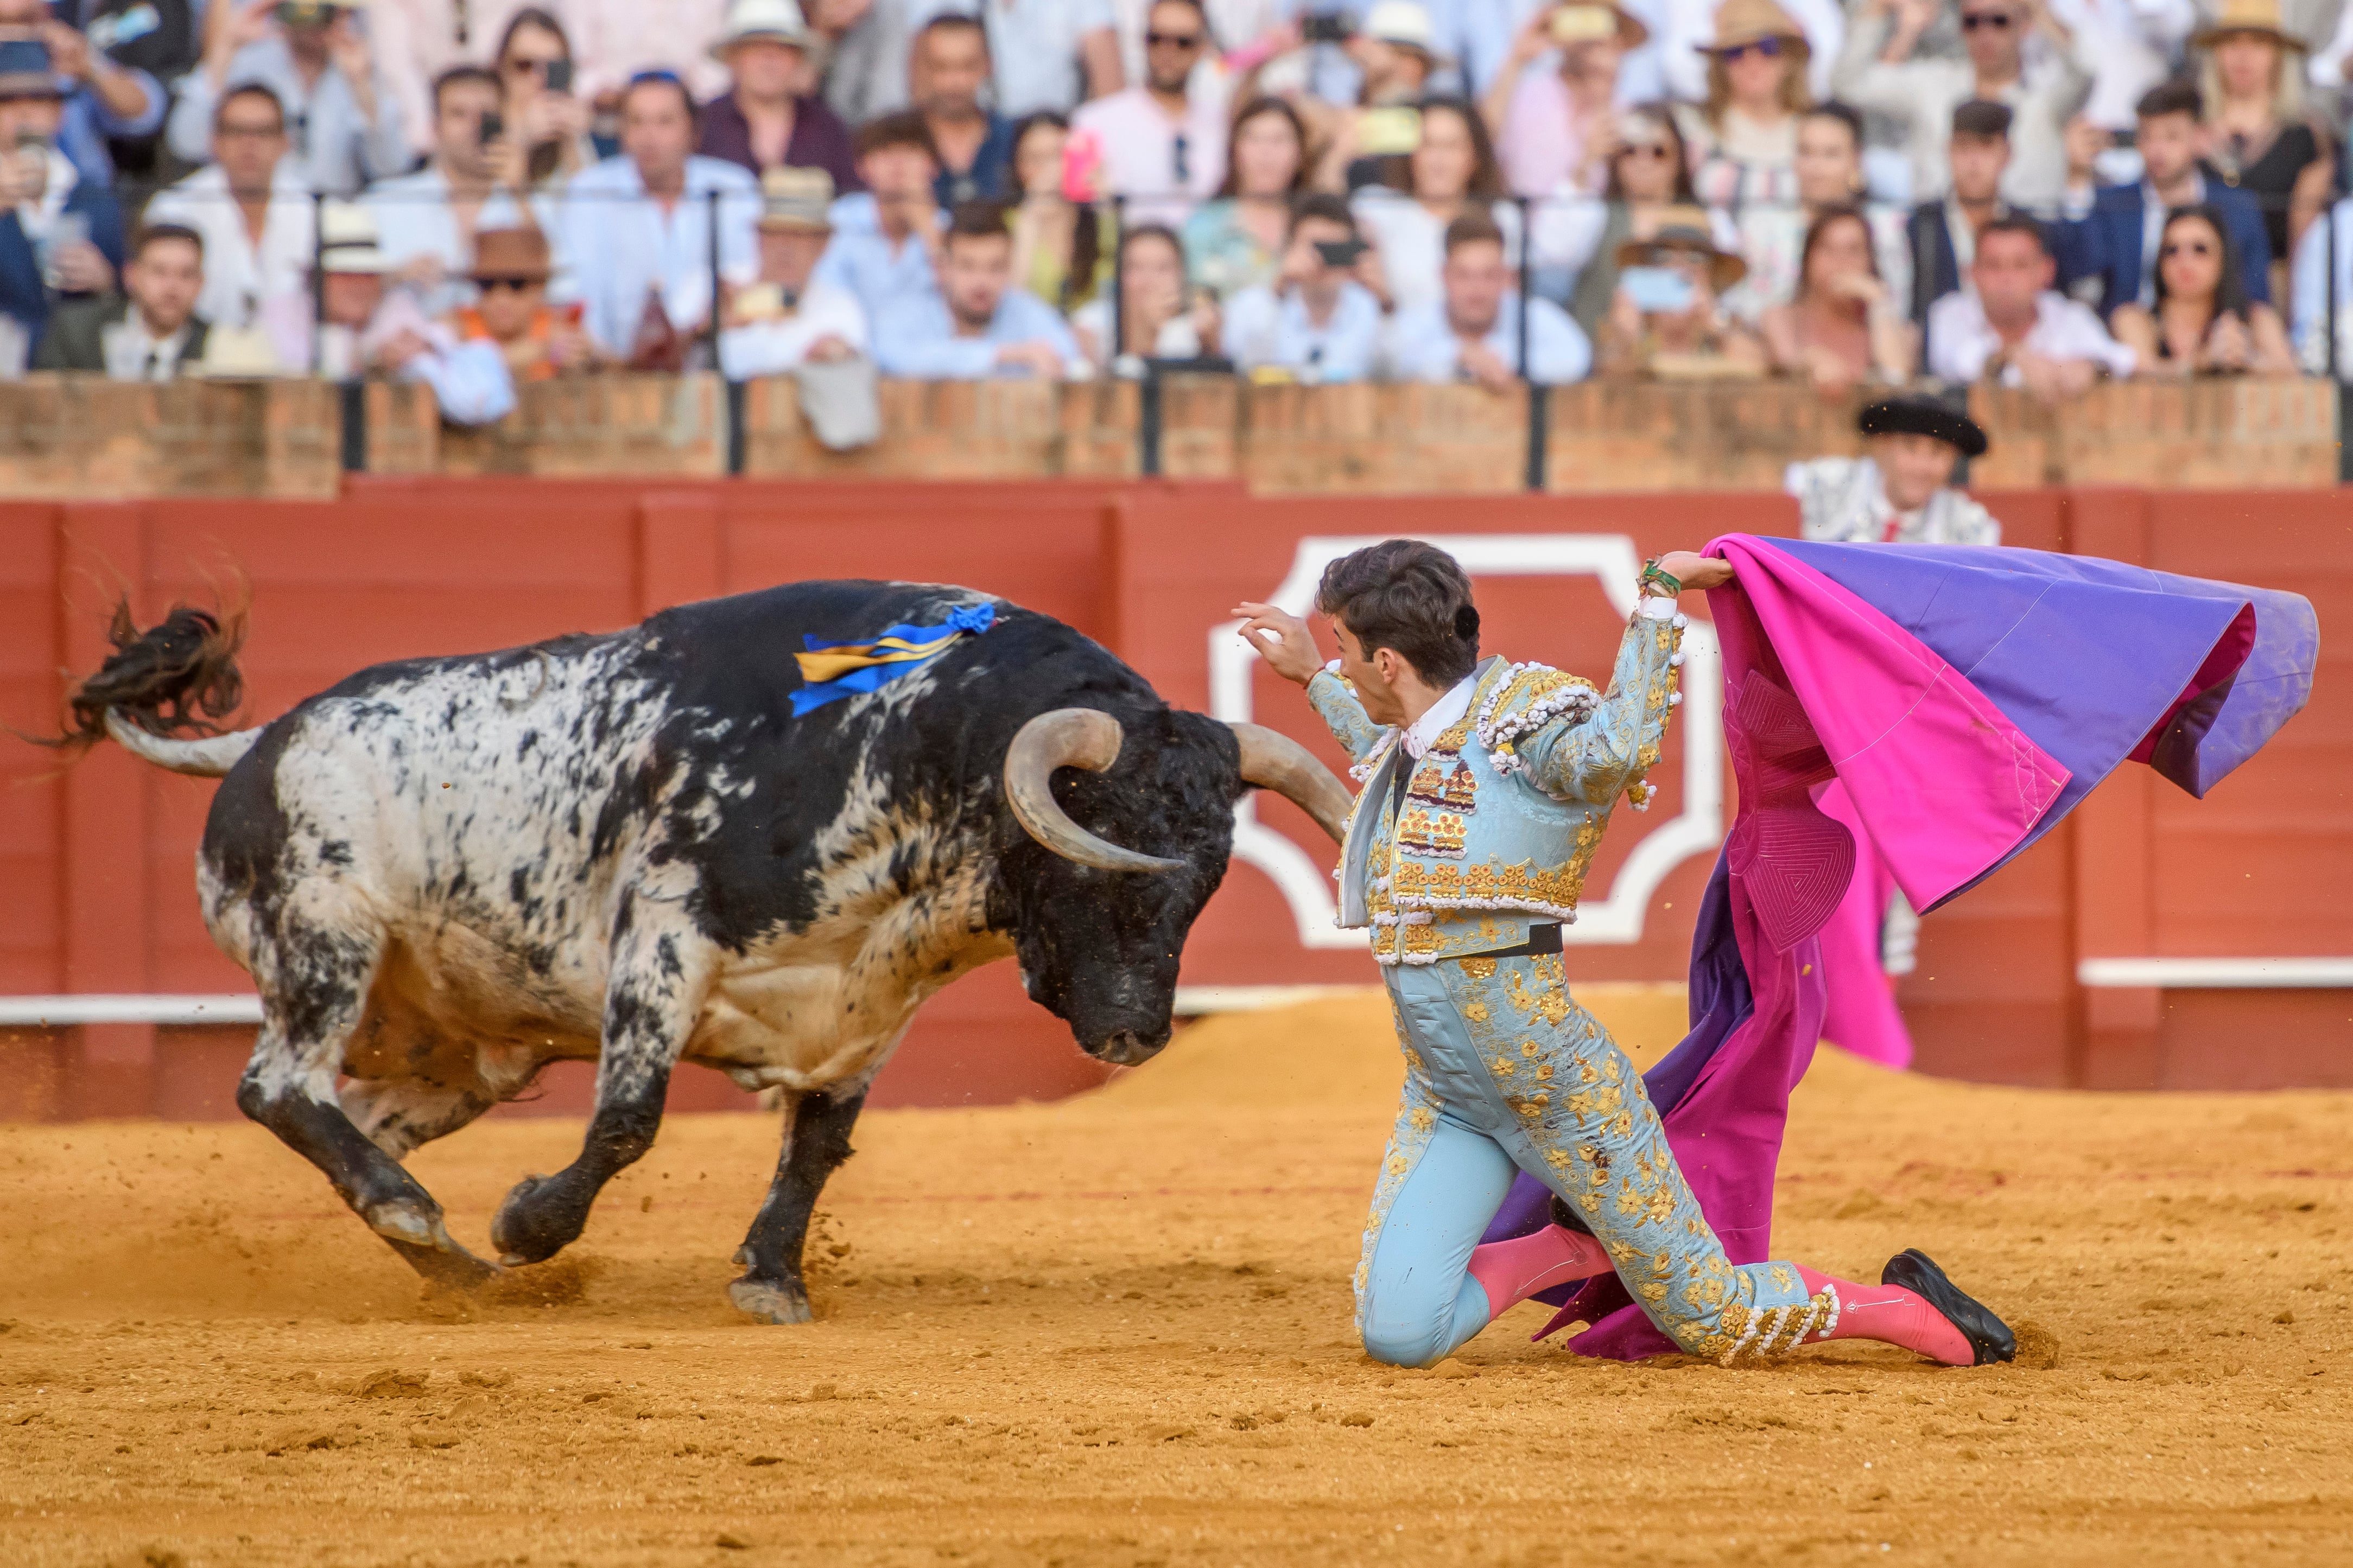
M 1362 538 L 1308 536 L 1299 541 L 1292 569 L 1271 595 L 1294 616 L 1306 616 L 1315 599 L 1322 569 L 1351 550 L 1377 545 L 1395 534 Z M 1407 536 L 1414 538 L 1414 536 Z M 1619 614 L 1631 616 L 1640 597 L 1635 574 L 1642 557 L 1626 534 L 1442 534 L 1428 536 L 1461 562 L 1471 576 L 1593 576 Z M 1249 665 L 1259 654 L 1242 642 L 1242 623 L 1224 621 L 1209 628 L 1209 712 L 1219 719 L 1249 722 Z M 1722 658 L 1715 628 L 1692 621 L 1682 632 L 1682 813 L 1659 823 L 1633 846 L 1607 898 L 1586 898 L 1577 922 L 1560 929 L 1565 943 L 1633 943 L 1642 938 L 1642 914 L 1652 893 L 1680 860 L 1715 849 L 1725 837 L 1725 750 L 1715 741 L 1722 729 Z M 1692 745 L 1706 736 L 1706 745 Z M 1332 924 L 1339 905 L 1332 900 L 1329 865 L 1308 856 L 1287 835 L 1259 823 L 1259 797 L 1245 795 L 1233 809 L 1233 858 L 1257 865 L 1282 891 L 1299 922 L 1306 947 L 1362 947 L 1365 931 L 1341 931 Z

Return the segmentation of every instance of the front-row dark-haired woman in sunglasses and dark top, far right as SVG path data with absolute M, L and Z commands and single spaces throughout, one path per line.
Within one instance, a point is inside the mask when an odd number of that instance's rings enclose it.
M 2177 207 L 2158 237 L 2158 303 L 2118 306 L 2115 341 L 2151 376 L 2292 376 L 2280 313 L 2247 299 L 2238 256 L 2212 207 Z

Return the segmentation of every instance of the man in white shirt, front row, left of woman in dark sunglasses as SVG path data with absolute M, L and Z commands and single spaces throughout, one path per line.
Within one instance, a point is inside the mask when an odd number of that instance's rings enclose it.
M 2132 350 L 2087 306 L 2052 289 L 2059 270 L 2033 219 L 1995 219 L 1977 235 L 1972 289 L 1927 313 L 1929 371 L 1993 378 L 2045 402 L 2082 395 L 2101 374 L 2129 376 Z

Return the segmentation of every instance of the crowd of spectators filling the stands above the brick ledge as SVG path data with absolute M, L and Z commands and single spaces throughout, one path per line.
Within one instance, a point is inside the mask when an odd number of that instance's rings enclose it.
M 2327 0 L 0 0 L 0 374 L 2320 371 L 2348 59 Z

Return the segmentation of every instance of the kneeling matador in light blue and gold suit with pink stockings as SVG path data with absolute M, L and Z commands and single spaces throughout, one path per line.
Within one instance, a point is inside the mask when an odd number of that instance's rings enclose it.
M 1682 701 L 1675 595 L 1729 578 L 1689 552 L 1645 567 L 1609 691 L 1480 661 L 1471 581 L 1426 543 L 1325 571 L 1332 665 L 1304 621 L 1235 611 L 1365 785 L 1341 846 L 1341 924 L 1372 926 L 1405 1048 L 1355 1272 L 1358 1331 L 1381 1361 L 1428 1366 L 1534 1288 L 1609 1269 L 1680 1349 L 1727 1366 L 1819 1340 L 1882 1340 L 1946 1366 L 2014 1354 L 2009 1328 L 1918 1251 L 1878 1286 L 1732 1265 L 1633 1063 L 1569 999 L 1560 926 L 1617 799 L 1647 804 L 1642 776 Z M 1555 1222 L 1480 1246 L 1515 1168 L 1551 1187 Z

